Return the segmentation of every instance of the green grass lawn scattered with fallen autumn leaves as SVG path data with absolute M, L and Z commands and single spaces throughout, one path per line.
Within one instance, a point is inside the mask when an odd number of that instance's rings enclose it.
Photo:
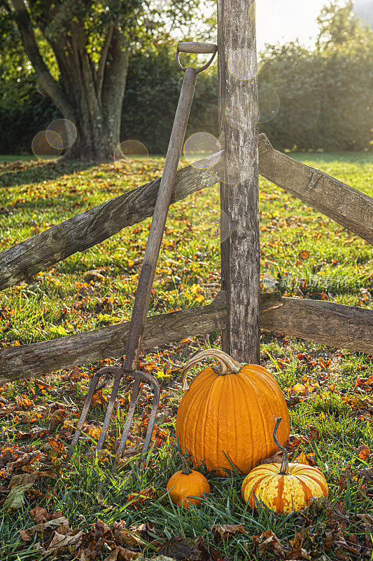
M 292 154 L 292 157 L 373 196 L 372 154 L 304 153 Z M 82 167 L 79 163 L 12 163 L 13 158 L 9 156 L 3 160 L 10 163 L 0 165 L 0 208 L 6 209 L 0 214 L 1 250 L 158 177 L 164 163 L 162 157 L 151 156 L 146 162 L 136 160 L 119 171 L 111 164 Z M 150 313 L 208 303 L 215 295 L 220 285 L 220 253 L 214 222 L 217 208 L 218 187 L 194 194 L 171 208 Z M 1 346 L 38 342 L 129 319 L 149 224 L 147 219 L 127 228 L 95 248 L 39 273 L 27 283 L 1 292 Z M 260 227 L 261 272 L 265 287 L 274 285 L 283 295 L 323 297 L 330 302 L 372 308 L 370 245 L 262 178 Z M 90 269 L 100 269 L 102 278 L 85 281 L 84 276 Z M 41 407 L 41 417 L 31 418 L 29 422 L 22 419 L 20 411 L 18 418 L 14 414 L 4 417 L 3 446 L 6 440 L 17 447 L 28 443 L 42 452 L 41 459 L 34 464 L 38 469 L 54 468 L 59 472 L 57 480 L 45 476 L 36 481 L 32 487 L 34 491 L 27 492 L 22 508 L 10 513 L 3 504 L 8 479 L 0 478 L 3 515 L 0 551 L 6 553 L 6 559 L 42 558 L 34 550 L 37 539 L 24 543 L 19 534 L 20 529 L 34 524 L 29 509 L 36 502 L 50 512 L 61 510 L 73 529 L 88 531 L 97 518 L 108 525 L 122 519 L 127 526 L 155 522 L 159 543 L 178 534 L 192 539 L 202 536 L 206 546 L 211 544 L 220 551 L 222 559 L 257 559 L 258 551 L 253 548 L 251 536 L 266 529 L 272 529 L 289 546 L 295 530 L 301 531 L 304 518 L 294 513 L 281 518 L 265 509 L 253 513 L 240 499 L 241 476 L 209 478 L 211 496 L 203 506 L 192 508 L 188 513 L 174 507 L 167 496 L 167 480 L 180 468 L 174 417 L 181 396 L 178 372 L 170 373 L 167 367 L 171 364 L 177 369 L 193 350 L 219 344 L 220 334 L 216 333 L 192 338 L 187 346 L 168 345 L 147 354 L 147 359 L 154 361 L 153 371 L 162 382 L 160 412 L 165 413 L 160 428 L 167 435 L 167 441 L 150 454 L 143 469 L 132 461 L 112 474 L 105 461 L 87 458 L 86 452 L 92 445 L 90 438 L 79 448 L 71 468 L 67 468 L 61 454 L 53 457 L 48 448 L 48 438 L 55 439 L 56 435 L 65 444 L 69 441 L 68 429 L 58 424 L 52 426 L 49 435 L 39 439 L 16 439 L 17 431 L 27 432 L 35 424 L 50 426 L 52 404 L 57 403 L 54 406 L 57 410 L 66 409 L 67 421 L 76 419 L 89 384 L 84 377 L 78 378 L 85 372 L 91 374 L 97 365 L 62 374 L 51 373 L 43 377 L 50 386 L 44 390 L 32 380 L 1 388 L 0 398 L 10 403 L 20 393 L 28 396 L 33 403 L 28 407 L 30 414 Z M 315 441 L 294 450 L 293 457 L 301 450 L 315 454 L 316 464 L 328 479 L 330 499 L 342 501 L 349 513 L 349 525 L 344 533 L 356 534 L 360 543 L 364 543 L 365 528 L 358 514 L 373 515 L 372 489 L 368 486 L 365 498 L 361 489 L 359 492 L 358 481 L 351 480 L 351 485 L 339 494 L 339 475 L 349 464 L 351 470 L 372 470 L 371 460 L 363 461 L 357 453 L 360 445 L 368 445 L 373 451 L 372 421 L 350 417 L 353 409 L 349 404 L 350 395 L 371 398 L 371 389 L 365 393 L 364 386 L 354 387 L 359 377 L 369 377 L 373 373 L 371 358 L 362 353 L 337 351 L 321 344 L 269 334 L 262 335 L 261 351 L 262 364 L 273 372 L 286 396 L 287 388 L 297 382 L 304 384 L 310 379 L 314 384 L 309 399 L 290 407 L 290 424 L 291 433 L 304 435 L 309 435 L 310 424 L 316 425 L 319 435 Z M 71 374 L 75 374 L 76 379 Z M 328 389 L 333 386 L 334 390 Z M 109 388 L 105 388 L 104 396 L 108 392 Z M 127 394 L 122 390 L 124 403 L 113 424 L 117 434 L 125 418 Z M 149 400 L 145 407 L 149 411 Z M 91 418 L 101 420 L 103 414 L 103 408 L 96 407 Z M 141 406 L 138 414 L 142 414 Z M 155 488 L 153 499 L 137 508 L 128 504 L 128 494 L 150 485 Z M 325 517 L 328 513 L 323 507 L 307 515 L 309 532 L 315 534 L 315 555 L 325 555 L 323 559 L 327 560 L 341 558 L 333 549 L 325 551 L 323 548 L 321 523 Z M 220 543 L 214 541 L 211 526 L 237 523 L 244 525 L 247 534 L 235 534 Z M 64 555 L 64 559 L 73 559 L 68 553 Z M 97 559 L 104 560 L 107 555 L 108 550 L 103 549 Z M 317 558 L 315 555 L 312 558 Z M 269 552 L 265 558 L 276 557 Z

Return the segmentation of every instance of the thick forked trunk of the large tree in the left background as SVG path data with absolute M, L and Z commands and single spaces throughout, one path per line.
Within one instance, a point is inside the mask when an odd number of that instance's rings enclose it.
M 33 65 L 38 83 L 64 119 L 77 132 L 76 142 L 62 158 L 83 161 L 112 161 L 120 142 L 120 116 L 127 81 L 129 51 L 125 37 L 108 27 L 98 67 L 87 52 L 87 37 L 82 22 L 69 25 L 71 34 L 62 32 L 58 41 L 40 25 L 59 67 L 58 81 L 52 77 L 39 50 L 27 4 L 11 0 L 24 50 Z

